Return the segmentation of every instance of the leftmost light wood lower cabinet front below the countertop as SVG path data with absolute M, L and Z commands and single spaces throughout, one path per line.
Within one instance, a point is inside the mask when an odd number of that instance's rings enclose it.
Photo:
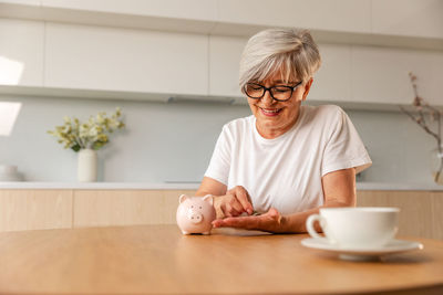
M 71 224 L 72 190 L 0 190 L 0 232 Z

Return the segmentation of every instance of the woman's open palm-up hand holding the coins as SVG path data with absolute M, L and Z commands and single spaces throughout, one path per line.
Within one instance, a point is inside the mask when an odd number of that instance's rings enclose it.
M 214 228 L 237 228 L 245 230 L 259 230 L 266 232 L 285 232 L 284 217 L 277 209 L 271 208 L 261 215 L 235 217 L 216 219 L 213 221 Z

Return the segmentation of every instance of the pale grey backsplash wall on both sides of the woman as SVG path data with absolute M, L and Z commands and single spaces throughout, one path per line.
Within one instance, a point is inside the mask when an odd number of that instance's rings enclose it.
M 247 106 L 1 96 L 21 102 L 10 137 L 0 137 L 0 162 L 18 165 L 29 181 L 75 181 L 76 154 L 47 130 L 63 116 L 86 118 L 121 106 L 126 130 L 99 152 L 102 181 L 199 181 L 223 124 L 249 115 Z M 373 160 L 364 181 L 432 182 L 433 139 L 402 113 L 348 110 Z

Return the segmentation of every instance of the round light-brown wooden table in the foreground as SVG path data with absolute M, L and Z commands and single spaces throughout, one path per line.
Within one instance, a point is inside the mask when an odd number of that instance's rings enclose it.
M 379 262 L 306 249 L 307 235 L 182 235 L 175 225 L 0 233 L 0 293 L 443 294 L 443 241 Z

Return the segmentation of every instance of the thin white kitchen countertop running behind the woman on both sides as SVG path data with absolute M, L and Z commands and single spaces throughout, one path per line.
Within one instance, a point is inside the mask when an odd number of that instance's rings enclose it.
M 0 182 L 0 189 L 84 189 L 84 190 L 196 190 L 199 183 L 165 182 Z M 357 190 L 431 190 L 443 191 L 434 183 L 357 182 Z

